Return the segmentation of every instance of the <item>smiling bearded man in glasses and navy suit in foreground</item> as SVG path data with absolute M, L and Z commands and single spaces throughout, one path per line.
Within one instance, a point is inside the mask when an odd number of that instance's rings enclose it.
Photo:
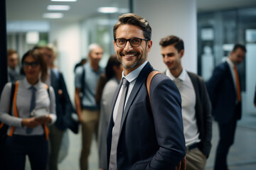
M 181 115 L 181 95 L 164 74 L 151 81 L 147 61 L 151 27 L 134 13 L 119 17 L 114 25 L 114 50 L 124 71 L 114 94 L 107 132 L 109 169 L 174 169 L 186 154 Z

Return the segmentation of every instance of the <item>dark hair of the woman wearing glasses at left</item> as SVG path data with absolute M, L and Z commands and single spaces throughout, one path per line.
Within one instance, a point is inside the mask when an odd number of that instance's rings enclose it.
M 24 60 L 28 56 L 32 56 L 33 59 L 39 63 L 41 67 L 41 80 L 45 81 L 47 77 L 47 64 L 45 60 L 43 60 L 43 55 L 41 54 L 41 52 L 38 49 L 28 50 L 28 52 L 26 52 L 21 59 L 22 65 L 24 63 Z M 21 71 L 22 71 L 21 74 L 25 74 L 24 69 L 21 69 Z

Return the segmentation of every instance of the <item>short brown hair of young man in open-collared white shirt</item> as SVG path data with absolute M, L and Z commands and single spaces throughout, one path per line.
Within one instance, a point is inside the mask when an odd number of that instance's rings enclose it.
M 159 42 L 159 45 L 161 45 L 162 47 L 166 47 L 168 45 L 174 45 L 174 47 L 176 48 L 176 50 L 178 50 L 178 52 L 181 52 L 181 50 L 184 50 L 183 40 L 181 40 L 181 38 L 178 38 L 174 35 L 168 35 L 165 38 L 162 38 Z

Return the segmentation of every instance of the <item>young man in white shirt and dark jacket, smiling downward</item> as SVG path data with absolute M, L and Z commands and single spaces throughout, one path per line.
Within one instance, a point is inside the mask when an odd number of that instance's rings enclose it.
M 184 44 L 181 38 L 169 35 L 161 39 L 160 45 L 163 61 L 168 67 L 165 74 L 175 82 L 181 93 L 186 169 L 205 169 L 212 136 L 210 99 L 206 85 L 201 77 L 183 69 L 181 58 Z

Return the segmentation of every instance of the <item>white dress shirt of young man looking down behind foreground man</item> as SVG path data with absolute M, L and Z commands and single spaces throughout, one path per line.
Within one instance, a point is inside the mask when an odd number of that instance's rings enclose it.
M 178 90 L 181 93 L 181 112 L 183 119 L 183 133 L 186 141 L 186 147 L 200 142 L 199 132 L 196 123 L 196 93 L 192 81 L 185 69 L 175 78 L 169 69 L 166 70 L 166 76 L 174 82 L 178 79 Z

